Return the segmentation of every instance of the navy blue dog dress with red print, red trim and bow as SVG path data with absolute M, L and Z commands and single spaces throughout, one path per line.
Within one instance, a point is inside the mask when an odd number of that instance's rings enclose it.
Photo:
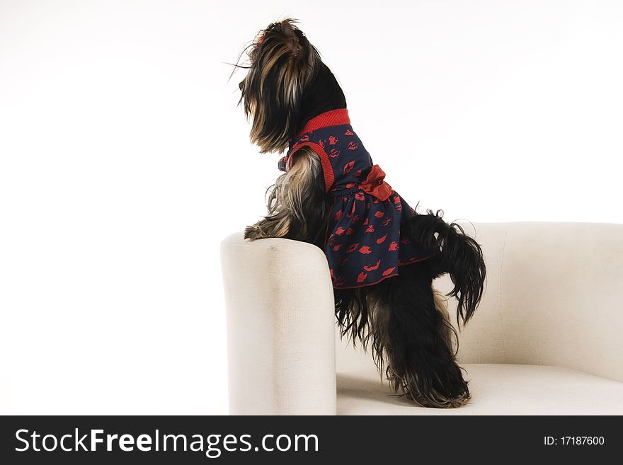
M 291 154 L 305 146 L 320 157 L 331 205 L 324 253 L 334 288 L 375 285 L 398 275 L 399 266 L 433 255 L 401 235 L 401 224 L 417 213 L 384 181 L 385 173 L 372 163 L 346 108 L 307 121 L 280 159 L 280 171 L 287 171 Z

